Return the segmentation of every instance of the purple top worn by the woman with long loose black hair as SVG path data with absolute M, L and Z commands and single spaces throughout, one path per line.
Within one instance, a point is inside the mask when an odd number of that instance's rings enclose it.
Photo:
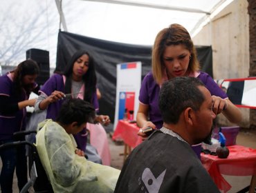
M 39 92 L 43 92 L 47 96 L 50 96 L 51 93 L 55 90 L 58 90 L 61 92 L 65 91 L 64 79 L 63 79 L 62 75 L 60 75 L 60 74 L 53 74 L 53 76 L 50 79 L 48 79 L 46 81 L 46 83 L 44 83 L 44 85 L 39 90 Z M 57 101 L 55 103 L 51 103 L 50 105 L 48 105 L 46 119 L 53 119 L 53 121 L 55 121 L 63 102 L 64 102 L 64 100 L 60 100 L 60 101 Z M 98 103 L 96 92 L 93 94 L 93 99 L 92 99 L 91 103 L 93 104 L 95 110 L 98 110 L 99 103 Z M 77 143 L 77 147 L 80 148 L 80 150 L 85 151 L 86 138 L 87 138 L 86 128 L 84 128 L 84 130 L 82 130 L 78 134 L 75 134 L 74 137 L 75 137 L 75 141 Z

